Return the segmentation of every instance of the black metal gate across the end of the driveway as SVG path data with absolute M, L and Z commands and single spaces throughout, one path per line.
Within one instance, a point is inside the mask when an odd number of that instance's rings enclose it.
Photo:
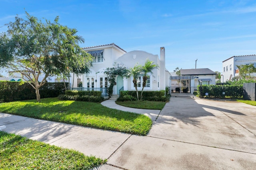
M 199 87 L 169 87 L 169 94 L 175 97 L 200 97 Z

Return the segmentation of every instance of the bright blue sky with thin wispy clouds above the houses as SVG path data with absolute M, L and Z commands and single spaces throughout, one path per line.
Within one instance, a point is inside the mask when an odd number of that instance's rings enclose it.
M 210 68 L 256 54 L 255 0 L 0 0 L 0 32 L 25 11 L 76 28 L 91 47 L 115 43 L 125 51 L 160 55 L 166 68 Z M 3 26 L 3 27 L 2 27 Z

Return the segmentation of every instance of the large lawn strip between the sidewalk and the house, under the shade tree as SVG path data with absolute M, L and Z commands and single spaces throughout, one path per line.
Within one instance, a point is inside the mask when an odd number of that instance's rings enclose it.
M 62 101 L 58 98 L 0 104 L 0 112 L 73 125 L 146 135 L 152 121 L 141 114 L 110 109 L 100 103 Z

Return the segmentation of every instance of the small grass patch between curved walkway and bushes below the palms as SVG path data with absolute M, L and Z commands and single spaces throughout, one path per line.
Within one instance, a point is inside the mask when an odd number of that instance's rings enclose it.
M 154 102 L 154 101 L 144 101 L 144 100 L 136 100 L 136 101 L 125 101 L 125 102 L 117 102 L 121 106 L 132 107 L 137 109 L 153 109 L 153 110 L 162 110 L 166 102 Z

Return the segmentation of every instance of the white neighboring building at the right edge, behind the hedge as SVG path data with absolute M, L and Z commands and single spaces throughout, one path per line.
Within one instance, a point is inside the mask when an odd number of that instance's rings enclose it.
M 256 66 L 256 55 L 240 55 L 233 56 L 229 59 L 222 61 L 222 77 L 221 82 L 226 80 L 232 80 L 234 76 L 239 74 L 237 65 L 249 65 L 254 64 Z

